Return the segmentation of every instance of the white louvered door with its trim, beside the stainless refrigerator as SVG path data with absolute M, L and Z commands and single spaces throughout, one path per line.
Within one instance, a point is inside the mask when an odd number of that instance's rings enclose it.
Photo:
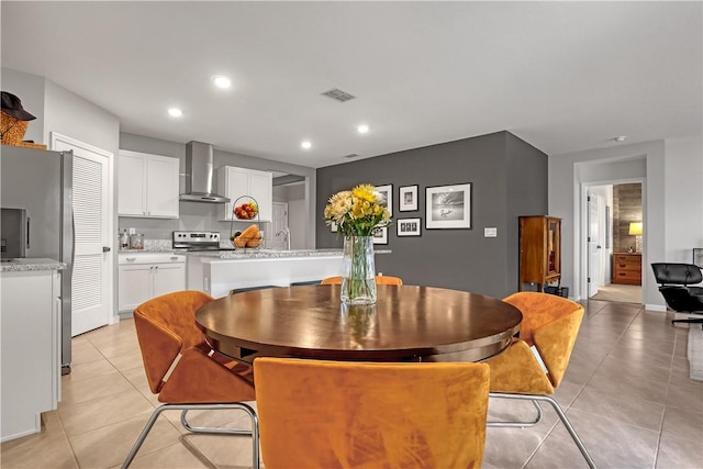
M 74 276 L 71 337 L 112 316 L 112 154 L 52 133 L 52 149 L 74 152 Z

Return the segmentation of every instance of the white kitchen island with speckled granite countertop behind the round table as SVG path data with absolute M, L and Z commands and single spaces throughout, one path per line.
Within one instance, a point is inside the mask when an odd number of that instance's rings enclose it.
M 342 273 L 342 249 L 242 249 L 188 253 L 189 290 L 222 298 L 230 291 L 289 287 Z

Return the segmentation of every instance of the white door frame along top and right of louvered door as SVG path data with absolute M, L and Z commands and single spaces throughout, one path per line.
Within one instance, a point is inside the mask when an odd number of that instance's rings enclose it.
M 69 137 L 68 135 L 64 135 L 58 132 L 51 132 L 51 147 L 52 149 L 56 147 L 58 142 L 62 142 L 66 145 L 70 145 L 74 147 L 79 147 L 88 152 L 96 153 L 98 155 L 102 155 L 108 158 L 108 188 L 107 188 L 107 197 L 108 197 L 108 236 L 104 241 L 104 246 L 110 248 L 111 256 L 105 256 L 105 265 L 104 265 L 104 278 L 107 282 L 105 290 L 105 303 L 108 306 L 108 317 L 105 317 L 105 324 L 112 325 L 120 322 L 120 316 L 114 313 L 114 256 L 115 256 L 115 236 L 111 236 L 110 233 L 115 233 L 114 226 L 114 155 L 105 149 L 98 148 L 85 142 L 78 141 L 76 138 Z M 74 156 L 75 157 L 75 156 Z M 75 233 L 74 233 L 75 236 Z M 72 314 L 72 312 L 71 312 Z

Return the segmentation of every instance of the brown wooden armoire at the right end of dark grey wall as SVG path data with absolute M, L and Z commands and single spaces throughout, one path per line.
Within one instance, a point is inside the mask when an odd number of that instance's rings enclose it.
M 561 280 L 561 219 L 548 215 L 520 217 L 520 291 L 525 283 Z

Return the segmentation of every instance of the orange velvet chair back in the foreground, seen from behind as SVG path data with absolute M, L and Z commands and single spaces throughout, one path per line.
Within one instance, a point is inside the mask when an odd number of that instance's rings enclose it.
M 481 466 L 488 365 L 264 357 L 254 376 L 267 469 Z

